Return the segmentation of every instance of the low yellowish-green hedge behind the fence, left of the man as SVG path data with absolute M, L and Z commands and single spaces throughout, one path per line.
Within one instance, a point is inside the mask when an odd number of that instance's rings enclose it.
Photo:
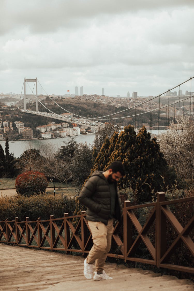
M 54 218 L 64 217 L 67 212 L 70 216 L 75 210 L 75 199 L 64 195 L 53 196 L 50 194 L 35 194 L 24 196 L 17 194 L 13 197 L 0 197 L 0 221 L 8 218 L 9 220 L 18 217 L 19 221 L 24 221 L 29 217 L 30 221 L 49 219 L 50 215 Z

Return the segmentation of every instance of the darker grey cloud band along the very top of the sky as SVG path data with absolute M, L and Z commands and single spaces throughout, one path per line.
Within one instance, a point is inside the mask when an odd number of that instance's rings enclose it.
M 26 27 L 31 33 L 48 33 L 60 28 L 75 28 L 88 24 L 99 15 L 115 16 L 138 11 L 159 11 L 193 7 L 193 0 L 3 0 L 1 1 L 0 33 Z

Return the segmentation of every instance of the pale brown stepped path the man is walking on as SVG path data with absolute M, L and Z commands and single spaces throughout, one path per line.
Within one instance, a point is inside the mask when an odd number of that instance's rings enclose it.
M 0 244 L 0 258 L 1 291 L 194 290 L 189 280 L 111 263 L 106 264 L 106 272 L 113 280 L 87 280 L 83 275 L 82 256 Z

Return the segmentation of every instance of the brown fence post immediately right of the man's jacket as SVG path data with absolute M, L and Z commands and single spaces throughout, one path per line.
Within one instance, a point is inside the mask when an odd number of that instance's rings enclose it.
M 123 212 L 123 244 L 124 244 L 124 260 L 127 261 L 128 244 L 131 240 L 131 227 L 128 227 L 129 217 L 127 216 L 127 207 L 131 205 L 131 201 L 124 201 L 124 212 Z

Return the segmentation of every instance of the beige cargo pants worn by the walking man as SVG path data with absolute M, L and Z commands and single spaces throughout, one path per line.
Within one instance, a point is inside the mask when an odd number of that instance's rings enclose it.
M 92 233 L 93 246 L 88 253 L 86 262 L 88 264 L 95 262 L 97 273 L 102 273 L 107 253 L 111 249 L 113 219 L 109 219 L 107 225 L 100 221 L 88 221 L 88 225 Z

